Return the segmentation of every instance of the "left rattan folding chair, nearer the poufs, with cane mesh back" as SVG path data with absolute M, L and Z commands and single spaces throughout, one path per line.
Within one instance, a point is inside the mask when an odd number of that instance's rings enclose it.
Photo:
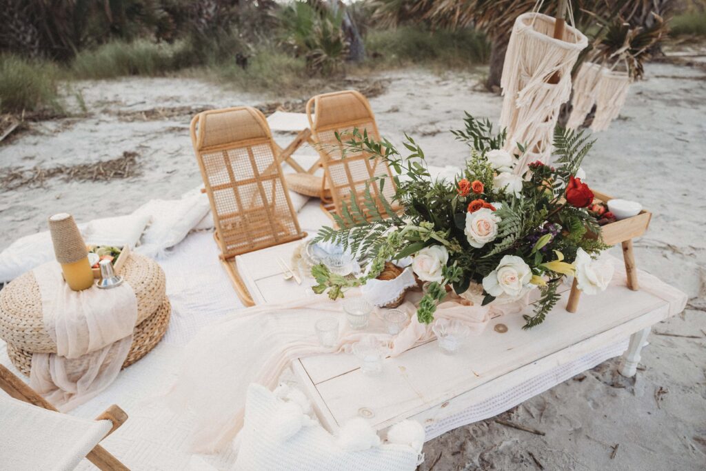
M 243 304 L 253 306 L 234 257 L 306 236 L 289 200 L 270 127 L 252 107 L 214 109 L 193 117 L 191 142 L 220 258 Z

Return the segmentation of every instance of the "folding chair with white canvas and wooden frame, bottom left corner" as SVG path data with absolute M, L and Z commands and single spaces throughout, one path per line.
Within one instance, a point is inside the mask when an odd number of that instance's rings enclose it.
M 0 434 L 5 445 L 0 446 L 1 468 L 31 469 L 34 465 L 30 463 L 36 465 L 37 457 L 28 453 L 40 453 L 40 460 L 52 463 L 52 467 L 43 469 L 73 469 L 88 452 L 85 458 L 101 470 L 128 469 L 97 444 L 127 420 L 120 407 L 108 407 L 95 422 L 63 415 L 1 364 L 0 389 L 12 398 L 2 398 L 0 405 Z

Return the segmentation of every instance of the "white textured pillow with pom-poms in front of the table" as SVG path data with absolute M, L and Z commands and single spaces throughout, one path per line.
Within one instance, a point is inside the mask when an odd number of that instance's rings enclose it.
M 234 470 L 412 471 L 417 468 L 424 429 L 405 421 L 380 439 L 364 419 L 345 424 L 337 436 L 306 415 L 308 401 L 282 386 L 271 392 L 253 383 L 248 389 L 243 429 L 237 437 Z M 304 410 L 303 410 L 304 409 Z M 400 426 L 400 427 L 398 427 Z M 397 429 L 395 429 L 397 427 Z M 407 443 L 401 443 L 406 441 Z

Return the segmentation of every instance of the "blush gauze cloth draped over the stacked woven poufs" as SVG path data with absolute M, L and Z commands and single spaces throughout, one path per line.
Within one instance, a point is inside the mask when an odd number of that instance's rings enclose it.
M 32 354 L 30 386 L 64 412 L 85 403 L 118 376 L 132 345 L 137 298 L 127 282 L 110 290 L 93 285 L 73 291 L 56 262 L 33 273 L 44 328 L 56 342 L 56 353 Z

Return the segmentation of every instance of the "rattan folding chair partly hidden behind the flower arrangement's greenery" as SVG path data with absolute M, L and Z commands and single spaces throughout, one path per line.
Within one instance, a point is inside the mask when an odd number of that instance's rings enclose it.
M 344 146 L 336 138 L 338 133 L 341 141 L 345 142 L 357 128 L 361 134 L 367 131 L 376 141 L 380 140 L 375 116 L 366 97 L 355 90 L 316 95 L 306 103 L 306 115 L 309 117 L 314 147 L 321 156 L 326 186 L 333 199 L 332 203 L 326 203 L 325 198 L 321 198 L 324 210 L 342 215 L 342 206 L 349 204 L 353 196 L 359 207 L 366 211 L 364 191 L 373 177 L 385 178 L 383 194 L 392 202 L 395 184 L 387 162 L 379 157 L 371 158 L 369 153 L 351 150 L 344 153 Z M 370 188 L 373 196 L 379 196 L 378 182 L 370 184 Z M 379 198 L 375 199 L 378 201 L 378 211 L 385 214 Z M 399 206 L 393 203 L 393 210 L 397 209 Z

